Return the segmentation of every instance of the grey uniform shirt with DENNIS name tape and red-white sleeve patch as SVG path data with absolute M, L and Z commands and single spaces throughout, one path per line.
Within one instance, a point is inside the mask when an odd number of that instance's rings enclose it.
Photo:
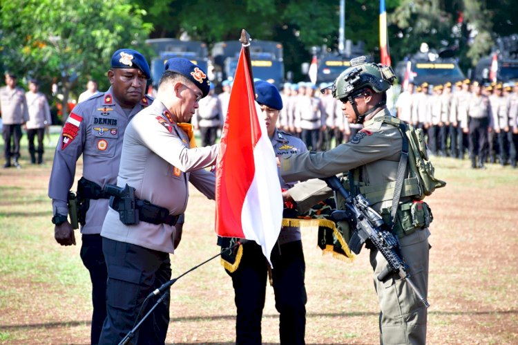
M 101 187 L 117 183 L 124 130 L 129 120 L 152 101 L 145 96 L 132 110 L 124 111 L 109 88 L 75 106 L 61 131 L 52 163 L 48 185 L 52 214 L 68 213 L 68 191 L 74 183 L 76 162 L 81 154 L 84 178 Z M 108 199 L 90 200 L 81 233 L 99 234 L 107 210 Z

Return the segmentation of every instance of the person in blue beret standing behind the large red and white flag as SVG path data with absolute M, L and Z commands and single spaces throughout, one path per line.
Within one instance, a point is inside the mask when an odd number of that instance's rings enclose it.
M 255 82 L 257 102 L 266 122 L 268 136 L 276 156 L 307 151 L 299 138 L 276 128 L 283 103 L 273 84 Z M 289 189 L 295 182 L 286 183 L 279 176 L 280 186 Z M 272 281 L 276 309 L 280 313 L 279 333 L 281 344 L 304 344 L 306 289 L 304 285 L 305 261 L 300 229 L 282 227 L 278 245 L 271 252 Z M 265 307 L 268 262 L 260 245 L 255 242 L 243 245 L 243 254 L 235 272 L 229 272 L 236 293 L 236 344 L 261 344 L 261 318 Z M 227 271 L 228 272 L 228 271 Z

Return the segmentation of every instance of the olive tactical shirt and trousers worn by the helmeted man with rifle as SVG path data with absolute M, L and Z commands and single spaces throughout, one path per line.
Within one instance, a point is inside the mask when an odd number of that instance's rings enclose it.
M 369 188 L 393 183 L 396 180 L 402 137 L 399 129 L 379 121 L 387 115 L 390 115 L 387 109 L 379 111 L 374 118 L 365 121 L 364 128 L 350 142 L 330 151 L 281 157 L 282 178 L 286 181 L 322 178 L 356 169 L 355 171 L 359 170 L 360 178 L 359 181 L 354 180 L 354 185 Z M 298 208 L 301 205 L 305 207 L 329 196 L 329 188 L 324 185 L 325 183 L 316 180 L 299 183 L 290 189 L 290 194 Z M 392 197 L 381 199 L 382 201 L 372 205 L 377 212 L 392 205 Z M 410 199 L 401 198 L 401 209 L 410 203 Z M 425 298 L 428 295 L 428 236 L 428 228 L 423 227 L 415 228 L 414 232 L 399 239 L 401 254 L 410 265 L 412 279 Z M 385 269 L 387 262 L 376 250 L 371 250 L 370 253 L 374 284 L 381 308 L 381 342 L 385 345 L 425 344 L 425 306 L 414 295 L 410 286 L 401 279 L 392 276 L 385 282 L 378 281 L 376 277 Z

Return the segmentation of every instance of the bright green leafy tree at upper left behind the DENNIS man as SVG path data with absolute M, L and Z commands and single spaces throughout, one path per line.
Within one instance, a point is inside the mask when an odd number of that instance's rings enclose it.
M 138 48 L 151 24 L 128 0 L 1 0 L 3 64 L 20 75 L 56 80 L 68 96 L 86 80 L 107 88 L 106 71 L 118 48 Z

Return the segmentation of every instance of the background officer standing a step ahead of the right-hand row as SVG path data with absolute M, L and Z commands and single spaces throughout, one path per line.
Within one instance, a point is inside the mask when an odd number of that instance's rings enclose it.
M 492 118 L 492 109 L 488 96 L 482 94 L 483 86 L 477 81 L 472 83 L 472 97 L 468 105 L 468 123 L 463 131 L 469 133 L 471 167 L 485 169 L 488 147 L 488 129 Z

